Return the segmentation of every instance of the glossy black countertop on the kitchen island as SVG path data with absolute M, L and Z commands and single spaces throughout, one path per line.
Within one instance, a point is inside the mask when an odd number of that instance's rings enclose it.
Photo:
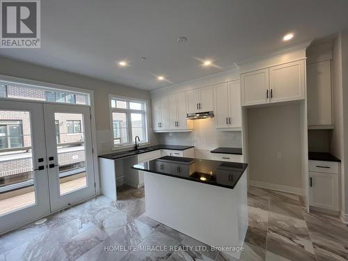
M 248 164 L 165 156 L 132 168 L 193 182 L 234 189 Z

